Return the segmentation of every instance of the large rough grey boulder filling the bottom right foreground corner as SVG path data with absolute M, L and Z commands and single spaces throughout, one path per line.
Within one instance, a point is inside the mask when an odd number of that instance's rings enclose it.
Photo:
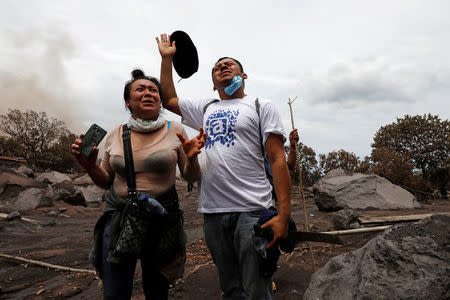
M 398 225 L 313 274 L 305 300 L 450 299 L 450 216 Z

